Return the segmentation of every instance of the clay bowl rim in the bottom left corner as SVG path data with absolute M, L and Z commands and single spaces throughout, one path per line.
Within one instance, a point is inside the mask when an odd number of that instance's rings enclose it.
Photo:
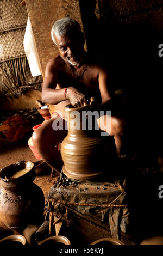
M 10 235 L 0 240 L 0 247 L 5 246 L 6 248 L 21 248 L 26 245 L 26 238 L 22 235 Z

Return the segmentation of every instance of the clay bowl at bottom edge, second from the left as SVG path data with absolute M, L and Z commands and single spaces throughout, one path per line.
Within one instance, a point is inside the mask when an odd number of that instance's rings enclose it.
M 61 236 L 61 235 L 57 235 L 57 236 L 51 236 L 48 237 L 47 239 L 41 241 L 39 243 L 39 246 L 42 247 L 61 247 L 61 246 L 65 246 L 65 245 L 71 245 L 70 241 L 67 239 L 67 237 L 65 236 Z

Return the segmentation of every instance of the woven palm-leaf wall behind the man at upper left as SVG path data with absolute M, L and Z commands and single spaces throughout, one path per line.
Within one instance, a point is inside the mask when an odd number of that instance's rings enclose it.
M 42 76 L 32 77 L 24 52 L 28 15 L 20 3 L 20 0 L 0 1 L 0 95 L 11 97 L 42 87 Z

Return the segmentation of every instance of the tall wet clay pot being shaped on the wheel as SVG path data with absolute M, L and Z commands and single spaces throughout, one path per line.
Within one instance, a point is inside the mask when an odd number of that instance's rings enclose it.
M 64 161 L 63 172 L 68 178 L 91 179 L 105 170 L 104 137 L 101 137 L 101 131 L 95 130 L 96 119 L 91 121 L 85 118 L 86 112 L 91 109 L 91 105 L 65 107 L 68 135 L 62 141 L 61 156 Z

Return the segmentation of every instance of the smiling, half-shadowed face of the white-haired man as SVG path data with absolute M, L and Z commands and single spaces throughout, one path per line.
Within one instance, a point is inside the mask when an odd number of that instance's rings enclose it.
M 83 59 L 84 35 L 82 33 L 68 33 L 64 36 L 54 36 L 60 55 L 71 65 L 78 66 Z

